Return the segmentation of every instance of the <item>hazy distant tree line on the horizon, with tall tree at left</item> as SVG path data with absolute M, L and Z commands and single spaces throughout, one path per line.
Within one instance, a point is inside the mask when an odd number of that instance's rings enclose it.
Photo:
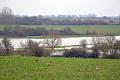
M 96 17 L 96 16 L 72 16 L 72 15 L 51 15 L 51 16 L 16 16 L 10 8 L 3 8 L 0 13 L 0 24 L 17 25 L 100 25 L 120 24 L 117 17 Z

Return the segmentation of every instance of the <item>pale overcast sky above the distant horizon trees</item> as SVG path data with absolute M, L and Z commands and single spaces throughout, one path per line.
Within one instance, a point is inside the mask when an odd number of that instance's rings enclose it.
M 0 11 L 9 7 L 15 15 L 118 16 L 120 0 L 0 0 Z

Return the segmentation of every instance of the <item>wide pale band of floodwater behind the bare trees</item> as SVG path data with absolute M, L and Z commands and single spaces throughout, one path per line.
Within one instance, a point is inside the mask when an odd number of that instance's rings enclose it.
M 116 39 L 120 39 L 120 36 L 115 36 Z M 25 43 L 27 40 L 33 40 L 36 42 L 43 42 L 44 39 L 32 39 L 32 38 L 9 38 L 11 40 L 14 48 L 21 48 L 21 43 Z M 0 41 L 2 38 L 0 38 Z M 62 38 L 61 46 L 73 46 L 80 45 L 81 40 L 86 40 L 88 44 L 92 43 L 92 37 L 70 37 L 70 38 Z

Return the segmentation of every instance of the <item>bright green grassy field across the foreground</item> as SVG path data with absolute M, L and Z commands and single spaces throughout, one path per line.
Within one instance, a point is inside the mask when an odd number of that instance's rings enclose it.
M 0 80 L 120 80 L 120 60 L 0 56 Z

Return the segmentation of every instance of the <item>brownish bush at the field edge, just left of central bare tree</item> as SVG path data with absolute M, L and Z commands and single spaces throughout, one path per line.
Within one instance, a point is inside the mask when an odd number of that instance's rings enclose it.
M 22 49 L 17 50 L 18 55 L 23 56 L 49 56 L 51 51 L 39 46 L 39 42 L 28 40 L 26 43 L 21 44 Z

